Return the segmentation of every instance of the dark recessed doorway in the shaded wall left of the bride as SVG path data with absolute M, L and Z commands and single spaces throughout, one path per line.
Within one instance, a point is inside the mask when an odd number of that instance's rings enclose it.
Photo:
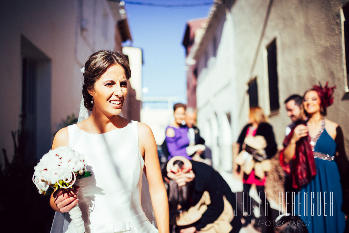
M 50 150 L 51 60 L 21 36 L 23 129 L 28 131 L 27 151 L 42 156 Z

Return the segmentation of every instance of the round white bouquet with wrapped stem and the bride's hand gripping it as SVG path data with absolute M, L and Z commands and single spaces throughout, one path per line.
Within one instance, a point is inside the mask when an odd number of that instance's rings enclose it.
M 69 212 L 78 233 L 84 233 L 85 227 L 81 210 L 77 205 L 79 198 L 74 185 L 77 179 L 91 176 L 86 171 L 84 155 L 60 146 L 50 150 L 34 167 L 33 182 L 40 194 L 52 194 L 50 204 L 56 211 Z M 54 203 L 52 203 L 54 202 Z

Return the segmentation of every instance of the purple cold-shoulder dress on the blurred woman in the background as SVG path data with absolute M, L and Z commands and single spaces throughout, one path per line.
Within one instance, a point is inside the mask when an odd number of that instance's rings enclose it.
M 174 126 L 167 126 L 166 131 L 168 128 L 171 128 L 174 130 L 174 137 L 168 137 L 166 135 L 166 144 L 167 148 L 169 150 L 169 158 L 171 159 L 173 156 L 180 155 L 184 156 L 187 159 L 192 159 L 190 156 L 187 155 L 187 152 L 185 148 L 189 146 L 189 138 L 188 138 L 188 127 L 187 126 L 181 126 L 181 127 L 174 127 Z

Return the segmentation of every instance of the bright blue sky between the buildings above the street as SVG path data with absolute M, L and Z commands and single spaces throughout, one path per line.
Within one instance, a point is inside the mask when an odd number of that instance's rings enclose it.
M 182 45 L 186 22 L 207 17 L 211 5 L 195 7 L 150 7 L 125 1 L 132 46 L 143 50 L 143 96 L 178 96 L 186 103 L 185 49 Z M 138 0 L 144 3 L 189 4 L 211 0 Z M 126 45 L 129 45 L 128 43 Z

